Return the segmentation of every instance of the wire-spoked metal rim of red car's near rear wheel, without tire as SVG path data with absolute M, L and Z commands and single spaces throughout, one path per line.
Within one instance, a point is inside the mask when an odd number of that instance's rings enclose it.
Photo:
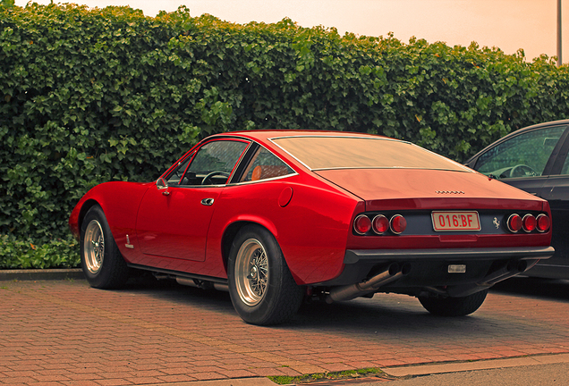
M 268 284 L 268 259 L 257 239 L 245 240 L 235 257 L 235 287 L 247 306 L 256 306 L 265 297 Z

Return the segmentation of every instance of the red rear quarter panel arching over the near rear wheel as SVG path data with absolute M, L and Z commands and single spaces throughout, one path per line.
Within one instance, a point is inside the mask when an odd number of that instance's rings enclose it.
M 284 189 L 293 189 L 293 197 L 281 206 L 278 199 Z M 212 218 L 207 260 L 225 264 L 225 230 L 236 222 L 253 222 L 275 236 L 298 284 L 333 279 L 344 268 L 357 202 L 352 195 L 310 175 L 227 187 Z

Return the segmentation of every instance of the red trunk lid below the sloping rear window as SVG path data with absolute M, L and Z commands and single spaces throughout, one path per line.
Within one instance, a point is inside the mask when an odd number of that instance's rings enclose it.
M 314 171 L 361 197 L 367 211 L 499 208 L 542 210 L 544 201 L 478 172 L 424 169 Z

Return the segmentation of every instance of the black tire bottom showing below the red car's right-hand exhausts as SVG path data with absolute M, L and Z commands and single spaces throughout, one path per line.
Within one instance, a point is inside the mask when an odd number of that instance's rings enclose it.
M 438 316 L 470 315 L 482 306 L 488 290 L 481 290 L 463 298 L 420 297 L 420 304 L 429 313 Z

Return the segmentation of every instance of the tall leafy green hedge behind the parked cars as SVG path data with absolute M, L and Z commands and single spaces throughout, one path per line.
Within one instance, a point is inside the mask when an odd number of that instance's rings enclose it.
M 8 3 L 0 234 L 4 250 L 20 252 L 0 254 L 0 268 L 31 253 L 21 252 L 28 244 L 76 250 L 66 221 L 90 187 L 154 180 L 210 133 L 371 132 L 463 161 L 569 111 L 567 68 L 545 56 L 342 37 L 288 19 L 238 25 L 185 7 L 150 18 L 128 7 Z

